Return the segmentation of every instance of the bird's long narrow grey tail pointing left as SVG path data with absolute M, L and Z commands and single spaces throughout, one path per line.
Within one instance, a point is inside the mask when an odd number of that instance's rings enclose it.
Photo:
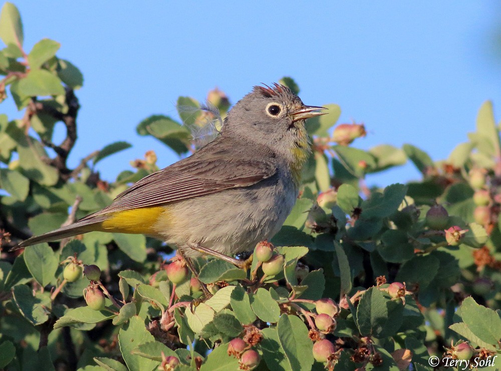
M 40 236 L 33 236 L 19 243 L 17 246 L 13 247 L 11 250 L 17 250 L 22 247 L 35 245 L 37 243 L 49 242 L 60 240 L 62 238 L 76 236 L 78 234 L 87 233 L 95 230 L 100 230 L 99 225 L 103 220 L 107 219 L 105 215 L 86 217 L 76 223 L 70 224 L 65 227 L 61 227 L 51 232 L 41 234 Z

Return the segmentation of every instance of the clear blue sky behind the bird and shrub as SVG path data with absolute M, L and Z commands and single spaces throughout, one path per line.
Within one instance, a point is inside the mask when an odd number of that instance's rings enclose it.
M 495 1 L 14 4 L 25 49 L 56 40 L 58 56 L 84 74 L 70 165 L 114 141 L 133 144 L 98 164 L 107 180 L 150 149 L 161 167 L 176 161 L 136 125 L 151 114 L 177 118 L 178 96 L 202 101 L 216 86 L 234 103 L 254 85 L 291 76 L 306 104 L 337 103 L 340 123 L 365 123 L 368 136 L 355 147 L 411 143 L 434 160 L 466 141 L 483 101 L 501 118 Z M 0 107 L 21 116 L 11 103 Z M 407 165 L 368 183 L 418 178 Z

